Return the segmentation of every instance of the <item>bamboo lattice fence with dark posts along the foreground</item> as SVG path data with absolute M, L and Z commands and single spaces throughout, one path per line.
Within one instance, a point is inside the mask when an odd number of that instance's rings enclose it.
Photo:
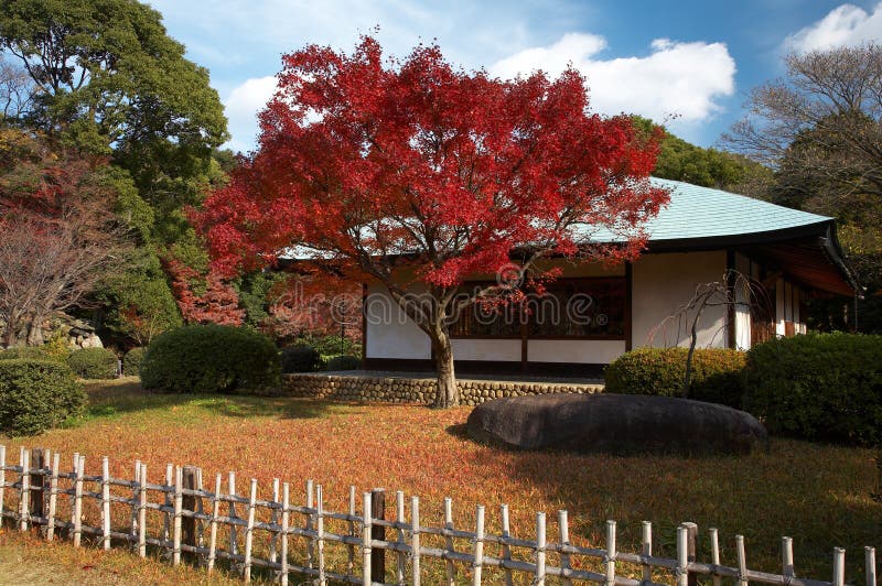
M 49 449 L 21 448 L 19 464 L 7 463 L 0 445 L 0 523 L 20 531 L 39 528 L 46 540 L 68 539 L 75 547 L 84 539 L 105 550 L 131 547 L 172 565 L 182 560 L 208 572 L 220 564 L 250 582 L 288 584 L 306 579 L 326 584 L 527 583 L 604 586 L 656 586 L 665 576 L 677 586 L 723 580 L 793 586 L 843 586 L 846 552 L 833 549 L 830 582 L 796 576 L 793 540 L 782 538 L 781 574 L 747 568 L 744 538 L 735 535 L 736 567 L 722 565 L 716 529 L 708 531 L 710 563 L 696 560 L 698 528 L 682 523 L 676 530 L 676 560 L 653 555 L 653 527 L 644 521 L 642 550 L 621 552 L 615 521 L 606 522 L 605 547 L 570 543 L 567 511 L 558 511 L 558 538 L 549 541 L 546 514 L 536 513 L 533 539 L 510 534 L 507 506 L 501 507 L 501 532 L 485 530 L 484 507 L 475 510 L 474 530 L 456 529 L 452 501 L 444 499 L 443 527 L 420 522 L 420 501 L 395 495 L 395 519 L 385 514 L 385 492 L 364 492 L 361 512 L 355 487 L 349 488 L 348 511 L 325 508 L 321 485 L 306 481 L 304 503 L 293 504 L 288 482 L 272 482 L 272 497 L 258 498 L 251 479 L 245 491 L 236 489 L 236 475 L 218 474 L 214 489 L 203 488 L 202 471 L 169 464 L 161 482 L 151 482 L 147 466 L 135 463 L 132 479 L 114 478 L 107 457 L 99 475 L 85 474 L 85 456 L 74 454 L 62 469 L 61 456 Z M 8 504 L 8 503 L 11 503 Z M 330 550 L 334 550 L 333 554 Z M 519 553 L 518 553 L 519 552 Z M 876 586 L 875 550 L 864 547 L 865 584 Z M 329 560 L 333 557 L 333 563 Z M 390 560 L 388 572 L 386 561 Z M 427 576 L 424 562 L 439 561 L 443 571 Z M 493 572 L 493 576 L 485 575 Z M 659 578 L 659 576 L 662 576 Z M 389 580 L 389 582 L 387 582 Z

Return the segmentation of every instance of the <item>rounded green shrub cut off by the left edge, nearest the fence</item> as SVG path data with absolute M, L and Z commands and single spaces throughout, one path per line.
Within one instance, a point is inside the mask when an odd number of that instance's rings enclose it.
M 0 361 L 0 432 L 34 435 L 56 427 L 86 404 L 86 393 L 63 363 Z

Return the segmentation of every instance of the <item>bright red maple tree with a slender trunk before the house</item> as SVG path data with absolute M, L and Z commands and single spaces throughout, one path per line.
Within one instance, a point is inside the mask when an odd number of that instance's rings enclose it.
M 466 276 L 513 259 L 523 275 L 550 256 L 634 258 L 639 226 L 666 202 L 648 183 L 657 138 L 589 113 L 573 69 L 504 82 L 452 67 L 438 46 L 384 58 L 366 36 L 351 55 L 286 55 L 278 78 L 258 151 L 196 218 L 214 265 L 297 245 L 383 283 L 431 340 L 438 406 L 459 402 L 445 316 L 490 293 L 458 295 Z M 601 230 L 616 243 L 585 246 Z

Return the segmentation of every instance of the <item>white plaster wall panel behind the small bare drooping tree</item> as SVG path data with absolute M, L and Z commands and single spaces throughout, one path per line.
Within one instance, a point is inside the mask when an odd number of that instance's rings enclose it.
M 725 273 L 725 251 L 644 254 L 632 273 L 632 344 L 688 346 L 691 315 L 681 324 L 662 322 L 695 294 L 699 283 L 720 281 Z M 698 347 L 724 348 L 727 308 L 707 307 L 698 324 Z M 678 327 L 679 326 L 679 327 Z M 655 332 L 654 332 L 655 330 Z

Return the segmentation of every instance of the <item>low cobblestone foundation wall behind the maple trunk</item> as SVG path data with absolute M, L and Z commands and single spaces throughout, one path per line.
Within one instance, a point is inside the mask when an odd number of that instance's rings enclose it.
M 548 393 L 595 393 L 603 384 L 574 382 L 512 382 L 495 380 L 459 380 L 462 404 L 476 405 L 491 399 Z M 378 401 L 384 403 L 432 404 L 434 379 L 391 377 L 343 377 L 334 375 L 284 375 L 282 393 L 286 397 L 331 399 L 334 401 Z

